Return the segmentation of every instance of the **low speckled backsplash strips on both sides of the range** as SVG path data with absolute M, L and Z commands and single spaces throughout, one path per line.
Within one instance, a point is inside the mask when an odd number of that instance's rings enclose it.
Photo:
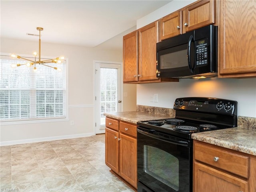
M 175 110 L 170 109 L 170 108 L 137 105 L 136 111 L 150 113 L 150 114 L 156 114 L 156 115 L 166 115 L 166 116 L 170 116 L 171 118 L 175 117 Z M 237 125 L 244 129 L 248 129 L 248 130 L 255 129 L 256 130 L 256 118 L 238 116 Z

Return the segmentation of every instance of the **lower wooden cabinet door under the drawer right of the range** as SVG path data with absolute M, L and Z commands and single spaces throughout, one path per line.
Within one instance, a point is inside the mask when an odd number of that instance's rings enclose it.
M 248 182 L 209 166 L 194 163 L 194 191 L 195 192 L 248 192 Z

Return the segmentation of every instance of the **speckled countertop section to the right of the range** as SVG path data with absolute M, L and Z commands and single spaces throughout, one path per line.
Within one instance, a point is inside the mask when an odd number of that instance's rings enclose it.
M 256 156 L 256 130 L 234 127 L 193 133 L 192 139 Z

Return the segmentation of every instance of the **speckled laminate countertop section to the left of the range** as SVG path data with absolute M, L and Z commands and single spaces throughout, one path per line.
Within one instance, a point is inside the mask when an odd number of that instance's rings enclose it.
M 137 124 L 138 121 L 160 120 L 170 118 L 170 116 L 150 114 L 146 112 L 129 111 L 129 112 L 112 112 L 104 113 L 106 117 Z

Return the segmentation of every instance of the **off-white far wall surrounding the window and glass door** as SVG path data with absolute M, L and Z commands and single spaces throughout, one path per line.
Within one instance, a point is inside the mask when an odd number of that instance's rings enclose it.
M 38 48 L 38 42 L 1 38 L 1 52 L 31 55 Z M 86 48 L 62 44 L 41 43 L 41 55 L 56 57 L 64 55 L 69 61 L 69 120 L 74 120 L 71 126 L 69 121 L 1 125 L 1 145 L 38 142 L 91 136 L 94 134 L 94 76 L 93 60 L 122 62 L 122 49 Z M 128 88 L 129 90 L 130 88 Z M 127 88 L 124 85 L 124 91 Z M 130 105 L 136 108 L 136 99 L 129 98 L 126 102 L 134 101 Z M 126 105 L 124 105 L 126 106 Z

